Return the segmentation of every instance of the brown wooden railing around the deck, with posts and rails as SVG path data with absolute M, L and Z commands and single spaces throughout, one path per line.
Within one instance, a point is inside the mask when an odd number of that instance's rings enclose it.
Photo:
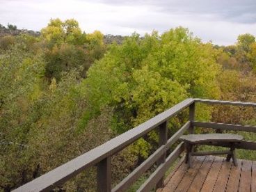
M 230 125 L 214 122 L 195 122 L 195 103 L 201 102 L 206 104 L 228 104 L 237 106 L 256 106 L 255 103 L 245 102 L 226 102 L 208 99 L 186 99 L 183 102 L 173 106 L 172 108 L 160 113 L 159 115 L 147 120 L 143 124 L 130 129 L 129 131 L 117 136 L 110 141 L 99 145 L 93 150 L 82 154 L 81 156 L 68 161 L 67 163 L 51 170 L 49 173 L 34 179 L 33 181 L 20 186 L 14 191 L 50 191 L 56 186 L 65 183 L 81 171 L 91 166 L 97 166 L 97 191 L 125 191 L 138 179 L 145 171 L 147 171 L 154 163 L 158 167 L 154 173 L 141 185 L 138 191 L 150 191 L 154 188 L 163 186 L 163 177 L 170 165 L 184 151 L 184 143 L 179 143 L 175 150 L 166 157 L 167 150 L 178 141 L 179 137 L 185 131 L 193 133 L 194 127 L 205 127 L 213 129 L 225 129 L 234 131 L 251 131 L 256 132 L 256 127 L 243 125 Z M 167 138 L 168 120 L 177 113 L 189 108 L 189 121 L 185 123 L 173 136 Z M 153 129 L 159 128 L 159 148 L 150 155 L 140 166 L 133 170 L 125 179 L 111 189 L 111 157 L 120 152 L 134 141 L 148 134 Z M 211 144 L 211 143 L 209 143 Z M 237 145 L 238 148 L 256 150 L 256 143 L 252 141 L 242 141 Z

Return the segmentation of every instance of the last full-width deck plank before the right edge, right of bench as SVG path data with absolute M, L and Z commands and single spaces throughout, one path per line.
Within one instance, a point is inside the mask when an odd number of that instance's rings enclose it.
M 239 192 L 248 192 L 250 191 L 250 186 L 252 182 L 252 161 L 243 160 L 241 167 L 241 178 L 239 184 Z

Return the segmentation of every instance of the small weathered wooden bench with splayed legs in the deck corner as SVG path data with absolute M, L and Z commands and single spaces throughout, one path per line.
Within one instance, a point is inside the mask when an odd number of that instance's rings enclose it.
M 204 156 L 204 155 L 216 155 L 216 154 L 227 154 L 227 161 L 232 158 L 234 166 L 237 166 L 237 157 L 235 154 L 236 143 L 243 140 L 243 136 L 235 134 L 189 134 L 179 138 L 179 140 L 186 143 L 186 163 L 189 163 L 191 168 L 191 157 L 192 156 Z M 225 143 L 230 145 L 230 150 L 227 151 L 211 151 L 211 152 L 193 152 L 194 145 L 209 145 L 214 143 Z

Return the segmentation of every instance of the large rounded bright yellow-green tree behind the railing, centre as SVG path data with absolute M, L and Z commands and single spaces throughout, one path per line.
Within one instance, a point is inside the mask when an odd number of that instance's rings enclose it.
M 112 107 L 112 129 L 122 133 L 186 97 L 218 98 L 218 72 L 212 45 L 202 44 L 179 27 L 163 35 L 154 31 L 145 38 L 134 34 L 122 45 L 112 45 L 90 67 L 83 83 L 90 115 Z M 139 143 L 144 147 L 138 151 L 147 156 L 147 144 Z

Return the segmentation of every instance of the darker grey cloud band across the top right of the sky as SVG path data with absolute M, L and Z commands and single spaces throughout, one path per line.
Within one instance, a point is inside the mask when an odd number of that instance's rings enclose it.
M 256 23 L 255 0 L 98 0 L 113 5 L 150 6 L 153 10 L 170 14 L 215 15 L 218 19 L 238 23 Z

